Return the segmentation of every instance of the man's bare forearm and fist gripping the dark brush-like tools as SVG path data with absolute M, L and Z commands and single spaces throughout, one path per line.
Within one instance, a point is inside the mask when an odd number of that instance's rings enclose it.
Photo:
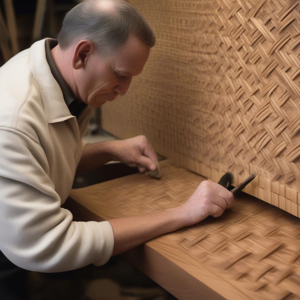
M 158 235 L 198 223 L 209 215 L 219 217 L 233 202 L 234 197 L 229 190 L 205 180 L 180 206 L 109 220 L 114 232 L 113 255 L 137 247 Z

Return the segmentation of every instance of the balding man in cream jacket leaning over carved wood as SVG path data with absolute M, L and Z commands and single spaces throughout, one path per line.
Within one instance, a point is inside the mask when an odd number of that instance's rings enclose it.
M 231 192 L 204 181 L 183 205 L 140 216 L 73 222 L 61 208 L 76 171 L 110 160 L 155 170 L 144 136 L 82 144 L 92 108 L 125 95 L 154 44 L 126 1 L 87 0 L 67 13 L 58 41 L 38 41 L 0 68 L 0 250 L 14 265 L 40 272 L 104 265 L 233 204 Z

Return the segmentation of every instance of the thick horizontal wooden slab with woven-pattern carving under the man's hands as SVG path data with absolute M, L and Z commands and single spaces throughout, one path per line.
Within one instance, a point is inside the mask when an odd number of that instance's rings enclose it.
M 108 220 L 178 206 L 204 180 L 170 160 L 160 167 L 160 180 L 138 173 L 70 196 L 85 220 Z M 299 218 L 243 193 L 222 217 L 152 239 L 128 257 L 179 299 L 296 300 L 299 232 Z

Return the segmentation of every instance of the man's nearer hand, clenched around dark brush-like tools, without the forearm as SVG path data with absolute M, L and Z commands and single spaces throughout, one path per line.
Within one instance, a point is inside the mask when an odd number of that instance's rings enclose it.
M 187 202 L 179 206 L 186 226 L 196 224 L 208 216 L 220 217 L 234 203 L 233 194 L 220 184 L 204 180 Z

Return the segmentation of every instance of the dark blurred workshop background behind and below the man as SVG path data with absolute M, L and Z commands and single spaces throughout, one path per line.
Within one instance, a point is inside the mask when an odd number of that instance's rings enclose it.
M 35 41 L 55 38 L 64 14 L 79 2 L 0 0 L 0 66 Z M 94 143 L 110 139 L 116 138 L 101 129 L 101 108 L 95 109 L 85 140 Z M 100 170 L 76 177 L 73 187 L 112 179 L 115 172 L 116 169 L 112 168 L 105 174 Z M 120 172 L 125 175 L 137 170 L 128 167 Z M 17 288 L 17 283 L 14 284 Z M 73 271 L 50 274 L 30 272 L 27 286 L 30 300 L 176 299 L 119 255 L 112 257 L 102 267 L 88 265 Z

